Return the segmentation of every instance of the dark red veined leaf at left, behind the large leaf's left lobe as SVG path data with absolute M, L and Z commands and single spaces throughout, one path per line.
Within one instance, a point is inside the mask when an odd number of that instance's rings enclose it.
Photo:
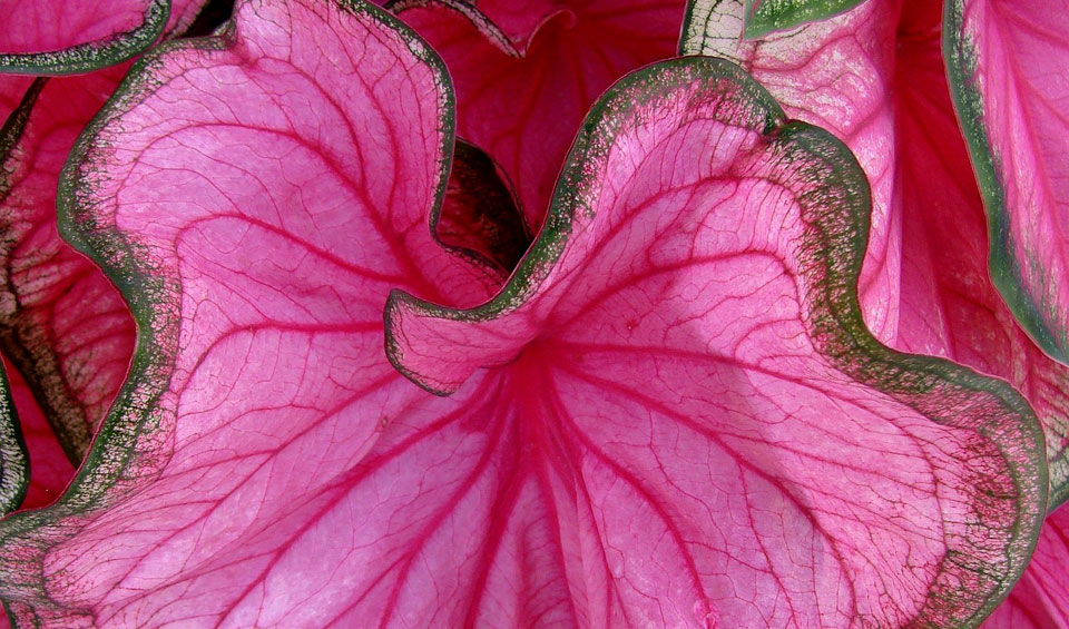
M 125 70 L 38 80 L 0 151 L 0 347 L 76 463 L 122 384 L 135 331 L 111 282 L 60 239 L 56 188 L 75 139 Z

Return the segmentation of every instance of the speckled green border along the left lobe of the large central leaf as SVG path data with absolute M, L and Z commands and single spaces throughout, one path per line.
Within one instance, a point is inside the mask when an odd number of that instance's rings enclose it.
M 444 61 L 412 29 L 394 16 L 365 0 L 330 0 L 341 10 L 365 17 L 399 33 L 412 55 L 424 62 L 435 77 L 442 118 L 439 120 L 442 144 L 439 159 L 439 184 L 434 193 L 432 222 L 437 225 L 452 165 L 454 142 L 455 101 L 452 82 Z M 91 181 L 84 178 L 80 167 L 88 163 L 94 150 L 110 147 L 97 145 L 98 134 L 115 118 L 145 100 L 159 87 L 157 70 L 170 53 L 188 50 L 215 51 L 231 48 L 236 37 L 237 8 L 216 33 L 195 39 L 173 40 L 149 49 L 131 66 L 100 111 L 82 129 L 60 173 L 57 197 L 58 228 L 72 247 L 96 263 L 119 289 L 130 307 L 137 325 L 137 341 L 127 380 L 119 390 L 111 410 L 100 424 L 85 462 L 78 469 L 68 489 L 55 503 L 32 511 L 13 513 L 0 522 L 0 550 L 12 539 L 29 538 L 39 529 L 52 529 L 55 535 L 47 543 L 33 542 L 40 551 L 73 534 L 69 529 L 53 524 L 71 515 L 85 515 L 106 509 L 126 498 L 140 482 L 150 480 L 166 464 L 158 458 L 160 425 L 167 417 L 157 401 L 167 393 L 177 338 L 180 287 L 176 279 L 159 268 L 145 247 L 131 242 L 117 229 L 100 228 L 88 214 L 86 199 L 92 198 Z M 92 175 L 92 173 L 90 173 Z M 433 230 L 432 237 L 438 242 Z M 478 253 L 445 247 L 450 253 L 486 265 L 488 276 L 499 273 L 496 265 Z M 499 281 L 500 278 L 498 278 Z M 46 534 L 49 534 L 46 532 Z M 0 552 L 2 556 L 2 552 Z M 6 596 L 2 598 L 12 627 L 19 627 L 22 613 L 33 613 L 32 626 L 41 622 L 33 606 L 60 609 L 45 589 L 40 566 L 33 558 L 26 569 L 3 574 Z M 11 592 L 17 592 L 12 596 Z M 10 613 L 12 609 L 19 613 Z M 79 610 L 67 610 L 79 613 Z

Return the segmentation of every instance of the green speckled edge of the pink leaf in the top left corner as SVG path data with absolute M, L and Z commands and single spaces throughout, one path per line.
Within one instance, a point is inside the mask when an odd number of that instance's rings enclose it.
M 134 30 L 63 50 L 0 55 L 0 72 L 36 76 L 79 75 L 114 66 L 138 55 L 159 38 L 170 17 L 170 0 L 151 0 Z

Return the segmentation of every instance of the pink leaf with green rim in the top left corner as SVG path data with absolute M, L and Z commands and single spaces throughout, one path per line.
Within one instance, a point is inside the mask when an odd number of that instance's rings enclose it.
M 169 14 L 168 0 L 4 0 L 0 71 L 71 75 L 112 66 L 151 45 Z

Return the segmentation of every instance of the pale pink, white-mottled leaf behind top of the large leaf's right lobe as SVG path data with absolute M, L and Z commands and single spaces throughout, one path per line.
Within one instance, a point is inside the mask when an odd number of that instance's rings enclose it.
M 687 7 L 681 55 L 730 59 L 752 72 L 792 118 L 832 131 L 869 176 L 872 218 L 859 284 L 865 323 L 891 343 L 898 335 L 901 199 L 895 195 L 893 87 L 900 3 L 865 2 L 846 16 L 761 41 L 742 38 L 743 0 Z

